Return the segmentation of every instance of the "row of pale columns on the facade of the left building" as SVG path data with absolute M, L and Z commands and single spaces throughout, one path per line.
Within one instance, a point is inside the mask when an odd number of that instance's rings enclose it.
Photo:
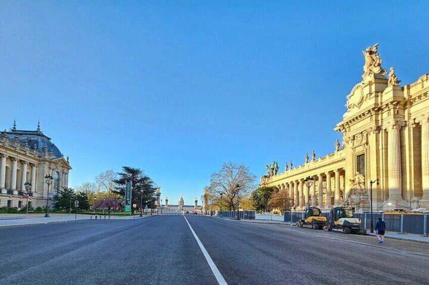
M 0 154 L 0 190 L 2 193 L 6 192 L 6 158 L 5 154 Z M 25 183 L 27 182 L 27 161 L 22 161 L 21 165 L 21 181 L 20 189 L 25 191 Z M 11 157 L 11 185 L 10 190 L 17 191 L 17 179 L 18 179 L 18 159 Z M 31 192 L 35 192 L 35 181 L 36 181 L 36 165 L 31 164 Z

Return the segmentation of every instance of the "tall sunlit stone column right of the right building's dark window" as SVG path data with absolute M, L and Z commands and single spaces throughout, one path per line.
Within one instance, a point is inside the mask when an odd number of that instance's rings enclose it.
M 405 122 L 392 120 L 386 124 L 388 131 L 389 200 L 402 200 L 401 141 L 399 130 Z M 395 205 L 397 207 L 397 205 Z

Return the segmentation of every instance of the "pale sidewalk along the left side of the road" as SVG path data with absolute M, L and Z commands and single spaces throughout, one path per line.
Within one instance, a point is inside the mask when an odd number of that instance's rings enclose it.
M 0 215 L 4 217 L 5 215 Z M 97 216 L 98 219 L 101 217 L 102 220 L 105 220 L 105 216 Z M 146 216 L 139 217 L 137 216 L 110 216 L 110 219 L 138 219 L 145 218 Z M 76 217 L 74 214 L 50 214 L 49 218 L 45 218 L 44 214 L 23 214 L 23 215 L 11 215 L 10 219 L 0 219 L 0 227 L 3 226 L 14 226 L 14 225 L 29 225 L 29 224 L 45 224 L 53 222 L 67 222 L 67 221 L 82 221 L 82 220 L 95 220 L 95 215 L 82 215 L 78 214 Z M 106 215 L 106 220 L 108 220 L 108 215 Z

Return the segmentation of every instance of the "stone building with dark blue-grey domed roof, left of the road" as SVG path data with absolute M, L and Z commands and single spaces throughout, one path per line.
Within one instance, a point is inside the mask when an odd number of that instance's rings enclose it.
M 35 208 L 46 205 L 47 184 L 44 176 L 54 178 L 50 198 L 68 186 L 69 159 L 40 130 L 17 130 L 14 122 L 9 132 L 0 132 L 0 207 L 24 207 L 25 183 L 31 183 L 28 204 Z M 52 206 L 53 200 L 50 201 Z

